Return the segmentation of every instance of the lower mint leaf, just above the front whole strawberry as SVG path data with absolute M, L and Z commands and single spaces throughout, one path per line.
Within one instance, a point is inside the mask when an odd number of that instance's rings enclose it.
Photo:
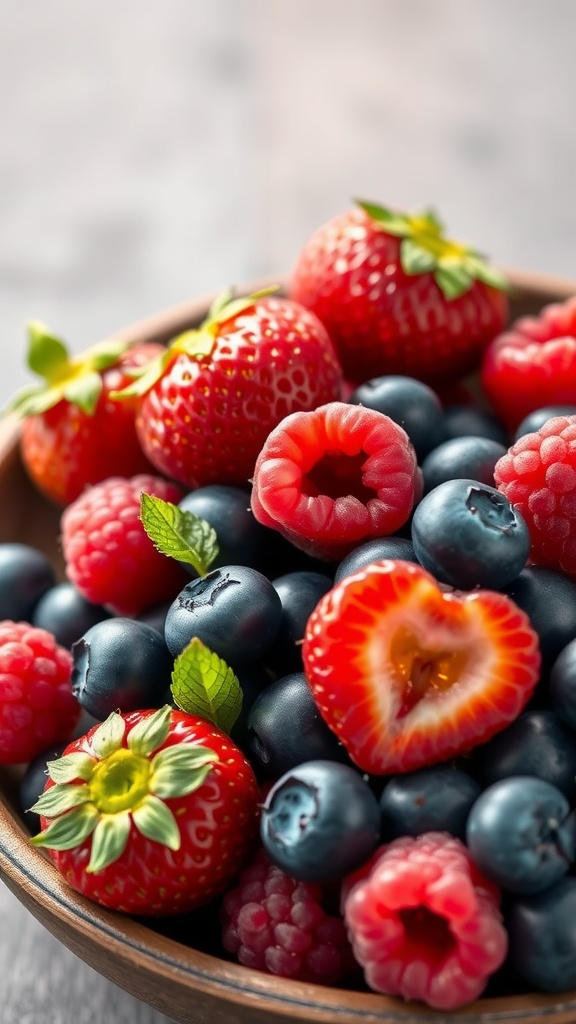
M 242 710 L 237 676 L 215 651 L 193 637 L 174 662 L 170 687 L 174 703 L 230 733 Z

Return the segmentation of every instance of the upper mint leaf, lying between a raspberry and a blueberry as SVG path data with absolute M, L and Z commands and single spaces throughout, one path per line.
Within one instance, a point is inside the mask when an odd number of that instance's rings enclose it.
M 140 519 L 158 551 L 206 575 L 218 554 L 216 531 L 209 522 L 146 493 L 140 496 Z

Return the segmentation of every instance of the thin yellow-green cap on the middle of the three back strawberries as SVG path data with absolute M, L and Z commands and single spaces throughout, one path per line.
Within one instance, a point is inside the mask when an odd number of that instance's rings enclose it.
M 234 298 L 231 290 L 221 292 L 208 311 L 206 319 L 198 328 L 184 331 L 174 338 L 165 352 L 156 359 L 152 359 L 140 374 L 134 375 L 134 380 L 121 391 L 112 391 L 112 398 L 128 398 L 133 395 L 143 395 L 150 391 L 151 387 L 160 380 L 174 357 L 179 354 L 188 355 L 191 359 L 207 358 L 214 347 L 214 343 L 222 326 L 234 319 L 241 313 L 247 312 L 258 299 L 263 299 L 268 295 L 273 295 L 278 291 L 278 285 L 270 288 L 262 288 L 251 295 Z

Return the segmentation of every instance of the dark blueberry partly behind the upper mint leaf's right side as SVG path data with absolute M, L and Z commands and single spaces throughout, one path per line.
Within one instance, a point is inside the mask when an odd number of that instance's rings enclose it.
M 218 554 L 212 568 L 237 562 L 261 568 L 269 531 L 255 518 L 248 490 L 229 484 L 207 484 L 186 495 L 179 508 L 206 519 L 215 529 Z M 194 572 L 191 565 L 187 568 Z

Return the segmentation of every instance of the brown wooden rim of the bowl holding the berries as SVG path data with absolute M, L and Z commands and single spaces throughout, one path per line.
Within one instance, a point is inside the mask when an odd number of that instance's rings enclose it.
M 511 296 L 546 304 L 576 295 L 576 281 L 535 271 L 505 271 Z M 271 281 L 281 286 L 285 279 L 258 281 L 238 289 L 248 294 Z M 213 296 L 202 296 L 179 306 L 147 317 L 121 330 L 116 336 L 129 341 L 166 342 L 179 332 L 201 322 Z M 1 470 L 19 459 L 18 424 L 8 417 L 0 424 Z M 18 816 L 6 796 L 12 785 L 11 769 L 0 770 L 0 874 L 8 888 L 27 908 L 77 955 L 90 963 L 89 953 L 105 949 L 106 970 L 100 973 L 143 998 L 151 1006 L 188 1024 L 196 1020 L 191 996 L 203 993 L 218 1021 L 217 1004 L 229 1005 L 235 1013 L 255 1013 L 238 1020 L 273 1020 L 275 1015 L 293 1020 L 338 1020 L 341 1024 L 364 1021 L 366 1024 L 454 1024 L 481 1022 L 540 1021 L 545 1018 L 566 1020 L 564 1014 L 576 1011 L 576 991 L 569 993 L 529 993 L 477 1000 L 449 1014 L 426 1007 L 405 1005 L 400 999 L 378 993 L 364 993 L 322 985 L 293 982 L 244 968 L 183 945 L 147 927 L 146 922 L 107 910 L 71 890 L 48 857 L 32 847 Z M 126 968 L 128 977 L 126 977 Z M 130 968 L 133 970 L 130 971 Z M 145 978 L 159 985 L 157 992 L 145 993 Z M 174 1004 L 170 986 L 178 988 Z M 165 994 L 162 986 L 166 987 Z M 184 998 L 186 997 L 186 998 Z M 180 1002 L 181 998 L 181 1002 Z M 236 1010 L 234 1010 L 236 1008 Z M 558 1016 L 558 1015 L 561 1016 Z M 202 1018 L 204 1019 L 204 1018 Z M 228 1018 L 227 1018 L 228 1019 Z M 231 1018 L 232 1019 L 232 1018 Z M 237 1019 L 236 1017 L 234 1018 Z M 574 1020 L 574 1018 L 572 1018 Z

